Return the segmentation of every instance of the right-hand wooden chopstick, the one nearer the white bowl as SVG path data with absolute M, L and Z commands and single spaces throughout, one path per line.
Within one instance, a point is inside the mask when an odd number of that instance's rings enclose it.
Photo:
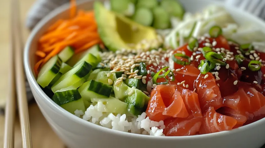
M 14 6 L 12 11 L 14 11 L 14 33 L 15 33 L 15 51 L 14 51 L 14 64 L 15 64 L 15 77 L 16 77 L 16 91 L 17 91 L 17 101 L 19 110 L 19 119 L 22 135 L 22 147 L 32 148 L 31 135 L 30 135 L 30 122 L 29 122 L 29 111 L 28 102 L 25 89 L 25 73 L 23 64 L 23 41 L 22 32 L 20 26 L 20 13 L 19 13 L 19 1 L 14 1 Z

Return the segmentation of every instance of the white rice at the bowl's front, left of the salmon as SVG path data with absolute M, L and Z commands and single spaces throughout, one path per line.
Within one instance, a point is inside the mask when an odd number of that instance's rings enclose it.
M 84 120 L 113 130 L 143 135 L 164 136 L 163 129 L 165 129 L 165 125 L 163 120 L 159 122 L 152 121 L 149 117 L 146 117 L 145 112 L 138 115 L 138 117 L 126 116 L 126 114 L 118 114 L 115 116 L 113 113 L 109 113 L 106 106 L 100 101 L 95 106 L 90 105 L 85 113 L 82 110 L 75 110 L 75 115 L 78 117 L 83 115 L 81 118 Z

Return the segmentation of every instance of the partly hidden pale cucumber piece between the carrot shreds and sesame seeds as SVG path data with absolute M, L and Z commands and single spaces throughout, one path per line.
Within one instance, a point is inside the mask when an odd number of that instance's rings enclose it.
M 73 67 L 78 61 L 80 61 L 82 58 L 87 56 L 87 54 L 89 53 L 93 54 L 97 58 L 96 63 L 99 63 L 101 61 L 99 45 L 94 45 L 91 48 L 87 49 L 86 51 L 74 54 L 73 57 L 67 61 L 67 64 Z

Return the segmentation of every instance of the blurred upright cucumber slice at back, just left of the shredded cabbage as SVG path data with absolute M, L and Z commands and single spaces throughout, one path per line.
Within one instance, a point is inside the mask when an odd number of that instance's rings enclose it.
M 157 29 L 166 29 L 170 26 L 169 14 L 162 7 L 153 9 L 154 22 L 153 27 Z

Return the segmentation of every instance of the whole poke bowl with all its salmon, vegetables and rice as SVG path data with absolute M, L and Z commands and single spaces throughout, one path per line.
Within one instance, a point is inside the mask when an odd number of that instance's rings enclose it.
M 33 29 L 25 72 L 70 148 L 259 148 L 264 28 L 218 1 L 73 1 Z

